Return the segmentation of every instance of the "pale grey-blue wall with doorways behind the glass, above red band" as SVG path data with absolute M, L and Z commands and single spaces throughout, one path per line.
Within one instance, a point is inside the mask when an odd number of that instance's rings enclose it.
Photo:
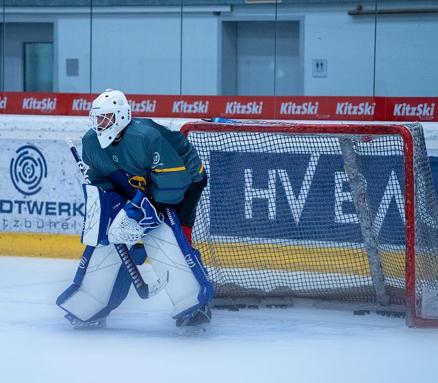
M 438 14 L 350 16 L 356 5 L 198 5 L 184 6 L 182 17 L 178 6 L 94 7 L 92 14 L 90 7 L 5 8 L 14 29 L 6 31 L 4 89 L 23 90 L 20 44 L 51 38 L 55 92 L 437 96 Z M 277 22 L 275 50 L 263 22 Z M 77 76 L 67 75 L 67 59 L 77 59 Z M 326 60 L 325 77 L 313 75 L 315 59 Z

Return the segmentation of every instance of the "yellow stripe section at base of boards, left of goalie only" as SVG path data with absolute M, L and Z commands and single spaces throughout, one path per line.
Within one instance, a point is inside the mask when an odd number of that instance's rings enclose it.
M 79 259 L 84 249 L 79 235 L 0 233 L 0 255 Z

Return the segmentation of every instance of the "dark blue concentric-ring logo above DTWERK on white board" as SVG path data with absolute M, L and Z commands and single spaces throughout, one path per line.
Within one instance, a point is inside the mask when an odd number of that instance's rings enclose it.
M 41 190 L 41 180 L 47 178 L 46 160 L 35 146 L 21 146 L 11 160 L 10 173 L 18 192 L 31 196 Z

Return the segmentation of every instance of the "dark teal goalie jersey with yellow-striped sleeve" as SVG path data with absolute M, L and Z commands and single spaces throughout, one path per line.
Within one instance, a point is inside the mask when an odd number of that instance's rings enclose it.
M 185 189 L 206 175 L 187 138 L 149 118 L 132 118 L 117 144 L 101 148 L 96 133 L 90 129 L 83 136 L 82 145 L 91 183 L 128 198 L 142 189 L 157 202 L 177 204 Z

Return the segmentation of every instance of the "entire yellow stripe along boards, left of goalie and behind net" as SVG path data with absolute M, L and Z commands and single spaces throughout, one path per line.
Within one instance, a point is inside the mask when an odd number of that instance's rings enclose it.
M 370 276 L 365 252 L 351 248 L 194 242 L 208 267 Z M 0 233 L 0 255 L 80 259 L 79 235 Z M 404 278 L 404 252 L 381 252 L 383 273 Z

